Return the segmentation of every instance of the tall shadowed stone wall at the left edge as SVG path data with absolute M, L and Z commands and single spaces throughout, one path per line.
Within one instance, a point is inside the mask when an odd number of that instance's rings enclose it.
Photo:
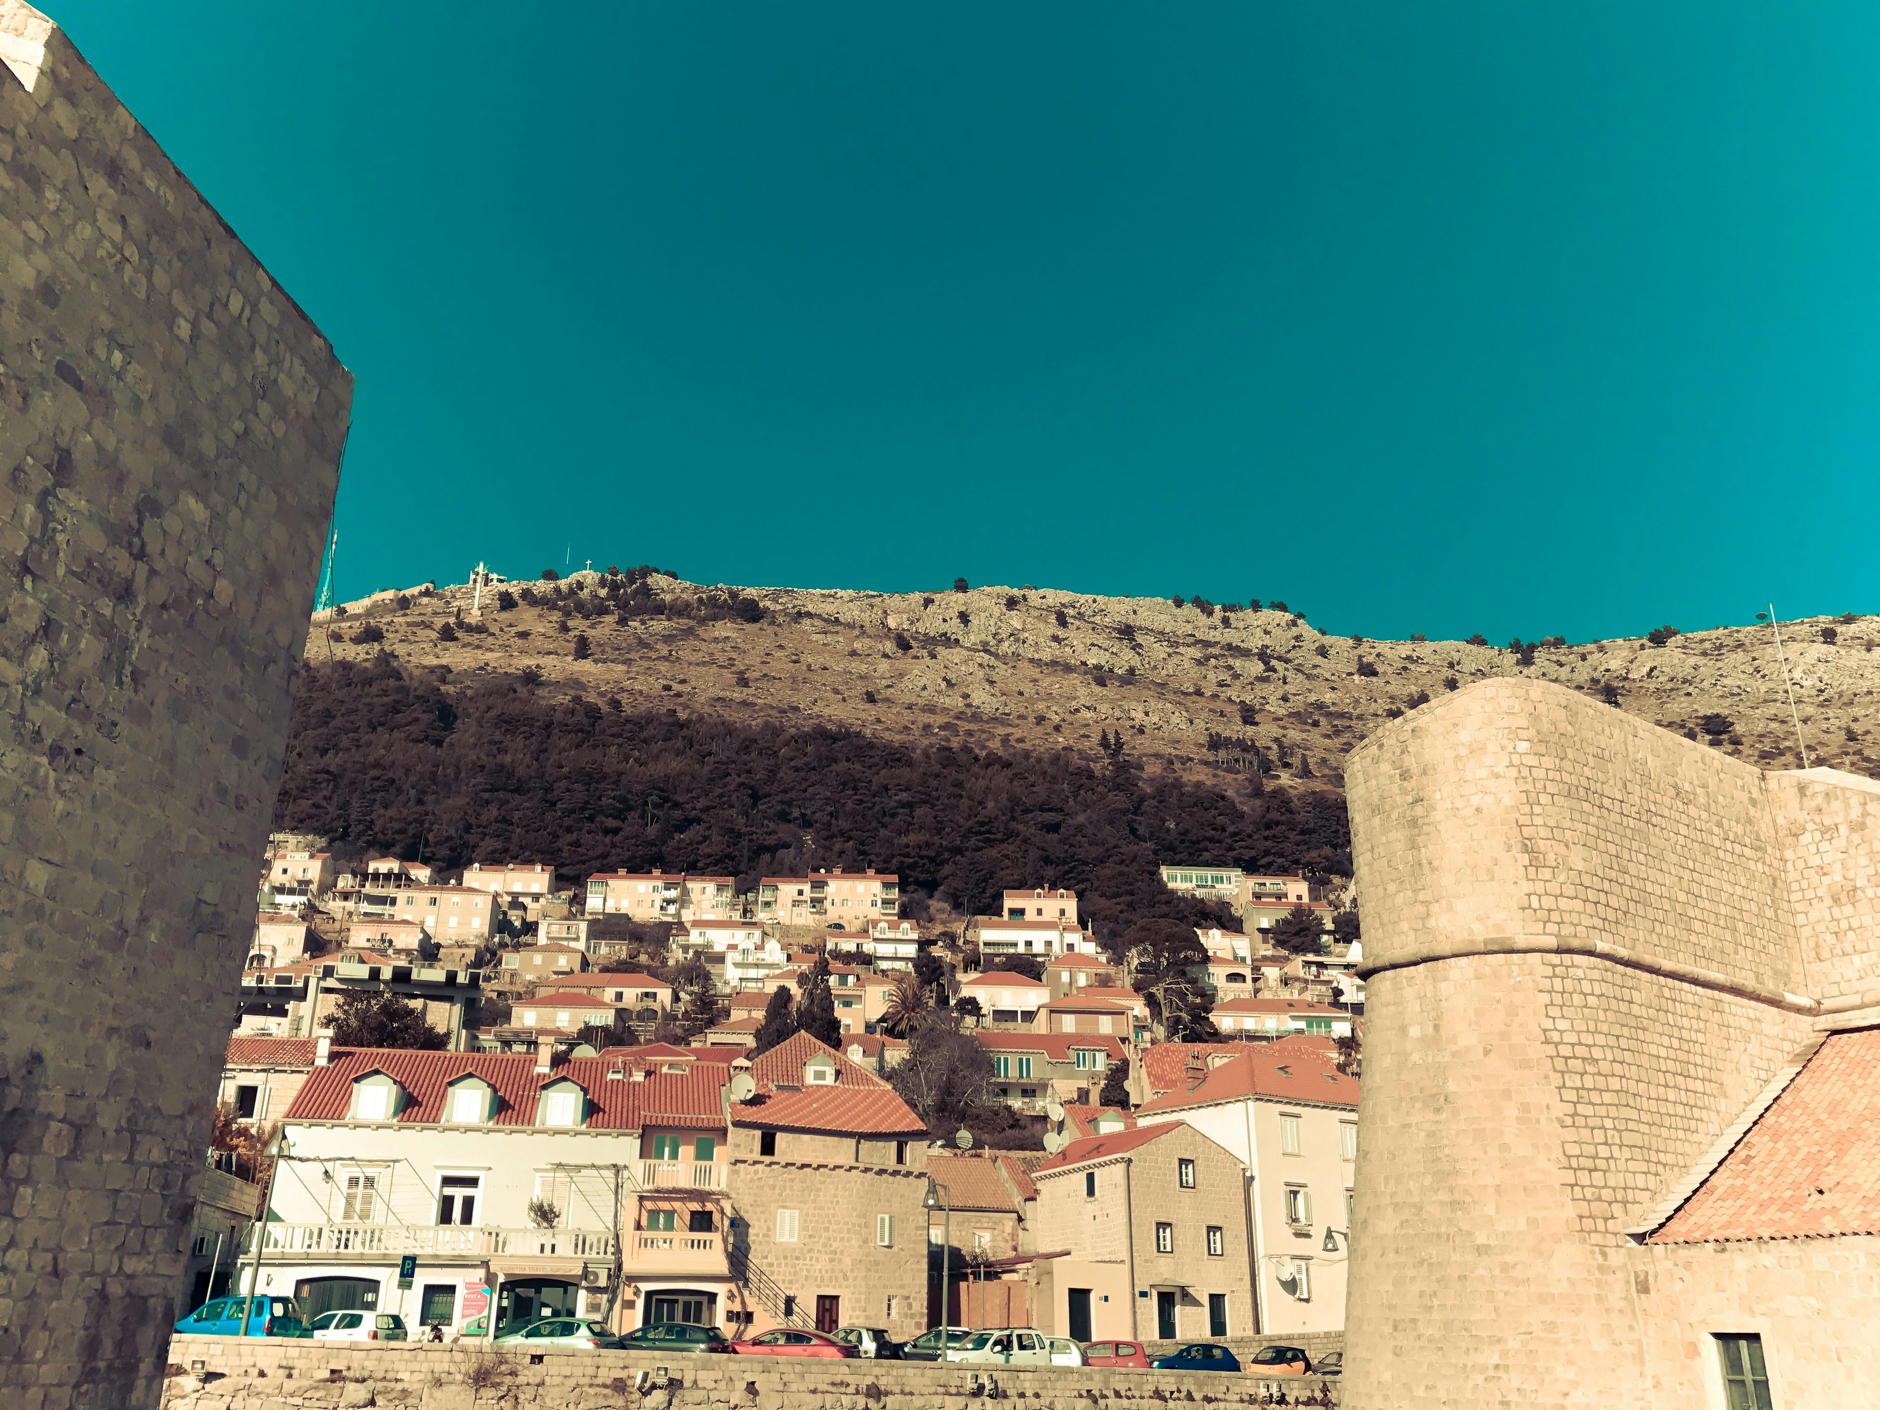
M 0 0 L 0 1404 L 154 1406 L 352 378 Z

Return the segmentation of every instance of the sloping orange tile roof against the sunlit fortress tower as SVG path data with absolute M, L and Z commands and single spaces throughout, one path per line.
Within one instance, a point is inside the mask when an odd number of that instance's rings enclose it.
M 1880 1028 L 1829 1034 L 1647 1243 L 1880 1233 Z

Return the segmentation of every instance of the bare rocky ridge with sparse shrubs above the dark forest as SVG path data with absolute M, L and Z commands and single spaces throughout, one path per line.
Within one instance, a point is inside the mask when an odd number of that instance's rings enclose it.
M 573 573 L 560 587 L 594 592 L 603 581 Z M 511 590 L 523 587 L 553 585 Z M 673 577 L 654 577 L 649 588 L 677 609 L 726 592 Z M 449 667 L 453 679 L 534 667 L 541 690 L 617 696 L 624 709 L 825 724 L 910 743 L 1073 748 L 1094 758 L 1098 737 L 1119 731 L 1124 750 L 1151 767 L 1222 782 L 1239 776 L 1248 786 L 1245 765 L 1258 746 L 1273 769 L 1269 782 L 1307 788 L 1342 788 L 1344 754 L 1393 711 L 1442 696 L 1449 681 L 1528 675 L 1598 697 L 1611 686 L 1619 709 L 1705 743 L 1713 739 L 1701 729 L 1705 716 L 1724 716 L 1730 728 L 1715 737 L 1716 748 L 1769 769 L 1799 763 L 1767 626 L 1684 632 L 1666 645 L 1626 637 L 1545 647 L 1521 666 L 1496 647 L 1331 637 L 1284 611 L 1203 611 L 1167 598 L 1004 587 L 731 590 L 761 602 L 765 619 L 671 615 L 619 626 L 609 605 L 590 619 L 573 615 L 562 634 L 558 605 L 494 611 L 494 592 L 485 590 L 489 634 L 446 643 L 438 626 L 457 611 L 468 617 L 472 600 L 470 588 L 446 587 L 412 596 L 406 609 L 350 603 L 331 634 L 316 624 L 308 658 L 361 660 L 385 649 L 412 666 Z M 361 620 L 380 626 L 384 643 L 350 643 Z M 573 660 L 577 634 L 590 641 L 588 660 Z M 1871 752 L 1880 744 L 1876 643 L 1874 617 L 1782 624 L 1809 763 L 1880 776 L 1880 756 Z M 1243 724 L 1243 707 L 1252 707 L 1252 724 Z

